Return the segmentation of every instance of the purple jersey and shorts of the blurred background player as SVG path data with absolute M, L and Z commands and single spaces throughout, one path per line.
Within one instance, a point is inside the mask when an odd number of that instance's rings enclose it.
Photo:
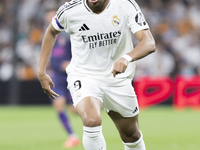
M 67 99 L 67 103 L 72 103 L 72 98 L 67 89 L 67 74 L 61 66 L 64 61 L 70 61 L 71 57 L 70 35 L 62 32 L 58 34 L 52 49 L 50 67 L 51 78 L 55 84 L 53 90 L 60 96 L 64 96 Z

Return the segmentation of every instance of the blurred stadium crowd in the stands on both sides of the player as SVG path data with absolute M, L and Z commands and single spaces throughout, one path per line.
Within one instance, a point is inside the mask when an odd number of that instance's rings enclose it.
M 136 77 L 200 75 L 200 1 L 136 1 L 157 44 L 154 54 L 137 61 Z M 13 75 L 19 80 L 36 79 L 47 26 L 45 11 L 64 2 L 0 0 L 0 81 L 8 81 Z M 137 44 L 134 37 L 133 42 Z

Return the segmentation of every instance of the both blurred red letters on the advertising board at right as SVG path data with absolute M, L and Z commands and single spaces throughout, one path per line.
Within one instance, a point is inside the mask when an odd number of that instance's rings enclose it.
M 134 80 L 140 108 L 150 107 L 173 98 L 177 109 L 200 109 L 200 77 L 143 77 Z

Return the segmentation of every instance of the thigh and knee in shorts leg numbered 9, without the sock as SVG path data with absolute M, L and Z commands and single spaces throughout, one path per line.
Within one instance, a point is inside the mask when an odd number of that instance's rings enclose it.
M 68 81 L 74 106 L 84 126 L 101 125 L 103 92 L 98 81 L 80 76 L 69 76 Z

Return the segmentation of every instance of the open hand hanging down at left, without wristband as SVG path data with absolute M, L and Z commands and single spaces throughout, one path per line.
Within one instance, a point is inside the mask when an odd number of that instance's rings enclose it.
M 44 93 L 46 93 L 50 98 L 55 99 L 55 96 L 58 97 L 59 95 L 55 93 L 51 88 L 54 88 L 54 83 L 47 74 L 40 74 L 38 73 L 38 79 L 42 86 Z M 51 88 L 50 88 L 51 87 Z

